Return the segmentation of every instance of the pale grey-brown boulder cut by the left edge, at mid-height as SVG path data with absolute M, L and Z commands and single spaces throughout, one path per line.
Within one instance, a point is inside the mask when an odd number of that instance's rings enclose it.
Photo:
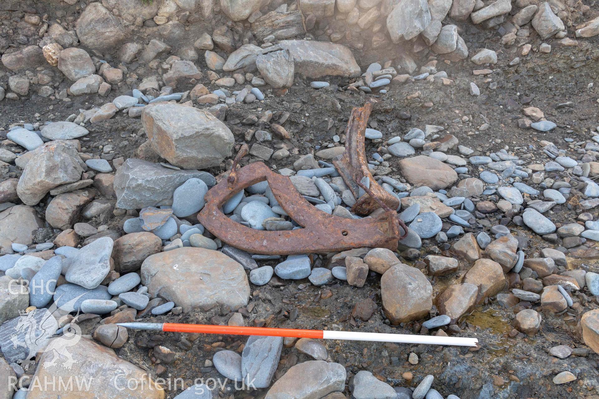
M 0 248 L 11 244 L 29 245 L 38 229 L 44 227 L 35 209 L 27 205 L 15 205 L 0 212 Z

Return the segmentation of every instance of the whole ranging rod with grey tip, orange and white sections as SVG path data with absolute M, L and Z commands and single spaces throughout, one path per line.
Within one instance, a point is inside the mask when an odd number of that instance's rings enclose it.
M 117 325 L 120 325 L 125 328 L 132 328 L 134 330 L 155 330 L 168 331 L 173 333 L 201 333 L 246 336 L 255 335 L 270 337 L 338 339 L 350 341 L 423 343 L 426 345 L 476 346 L 479 342 L 479 340 L 477 340 L 476 338 L 437 337 L 412 334 L 362 333 L 360 331 L 299 330 L 296 328 L 235 327 L 231 325 L 145 322 L 117 323 Z

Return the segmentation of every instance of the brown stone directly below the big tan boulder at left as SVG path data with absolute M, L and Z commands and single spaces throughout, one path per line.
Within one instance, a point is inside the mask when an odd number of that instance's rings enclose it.
M 46 208 L 46 221 L 56 229 L 71 229 L 83 206 L 91 202 L 95 196 L 96 191 L 92 188 L 59 194 Z

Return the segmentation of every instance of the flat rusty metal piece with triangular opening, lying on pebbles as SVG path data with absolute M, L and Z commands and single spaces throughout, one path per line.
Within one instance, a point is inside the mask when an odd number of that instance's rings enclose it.
M 268 181 L 279 205 L 303 229 L 282 232 L 255 230 L 223 214 L 223 203 L 235 193 L 264 180 Z M 199 222 L 223 242 L 252 254 L 310 254 L 363 247 L 395 251 L 397 241 L 403 234 L 395 211 L 363 219 L 345 219 L 320 211 L 295 190 L 287 176 L 273 172 L 262 162 L 237 169 L 233 184 L 228 179 L 222 179 L 204 198 L 206 205 L 198 214 Z

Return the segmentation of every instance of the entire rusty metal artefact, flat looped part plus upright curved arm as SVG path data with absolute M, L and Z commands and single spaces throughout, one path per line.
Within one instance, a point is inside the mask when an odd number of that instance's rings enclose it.
M 243 145 L 235 157 L 229 176 L 222 179 L 205 195 L 206 205 L 198 214 L 199 222 L 223 242 L 252 254 L 310 254 L 364 247 L 397 250 L 398 240 L 407 236 L 407 227 L 395 211 L 398 203 L 392 200 L 397 201 L 397 198 L 391 196 L 374 181 L 365 163 L 364 133 L 370 110 L 370 103 L 367 103 L 364 108 L 353 109 L 348 136 L 354 138 L 355 143 L 346 147 L 346 153 L 335 160 L 337 162 L 335 165 L 341 165 L 338 167 L 344 169 L 344 173 L 341 174 L 348 185 L 351 182 L 356 192 L 362 188 L 365 191 L 364 196 L 371 199 L 362 196 L 359 199 L 361 203 L 359 209 L 365 211 L 380 207 L 383 208 L 384 213 L 362 219 L 346 219 L 326 214 L 304 199 L 295 190 L 288 176 L 273 172 L 263 162 L 255 162 L 236 169 L 241 158 L 247 154 L 247 145 Z M 354 133 L 355 129 L 358 133 Z M 360 144 L 361 148 L 358 148 Z M 356 154 L 350 151 L 356 151 Z M 349 180 L 349 176 L 352 176 L 353 180 Z M 370 187 L 361 182 L 365 176 L 371 180 Z M 222 205 L 231 197 L 240 190 L 265 180 L 268 181 L 279 205 L 302 229 L 277 232 L 255 230 L 223 214 Z

